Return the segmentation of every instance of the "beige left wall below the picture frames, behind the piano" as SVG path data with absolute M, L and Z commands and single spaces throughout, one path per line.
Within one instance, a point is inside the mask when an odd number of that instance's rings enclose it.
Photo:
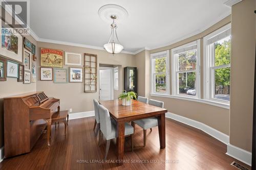
M 32 36 L 26 36 L 33 44 L 36 44 L 35 39 Z M 7 81 L 0 81 L 0 148 L 4 145 L 4 102 L 3 98 L 14 95 L 22 94 L 30 91 L 36 91 L 36 83 L 23 84 L 23 82 L 17 82 L 16 78 L 7 78 Z

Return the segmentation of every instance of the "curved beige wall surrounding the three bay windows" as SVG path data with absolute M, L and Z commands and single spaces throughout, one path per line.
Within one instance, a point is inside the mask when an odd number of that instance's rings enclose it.
M 200 34 L 197 34 L 195 36 L 189 37 L 187 39 L 184 39 L 182 41 L 179 41 L 177 43 L 174 43 L 165 47 L 157 48 L 151 51 L 143 51 L 137 54 L 136 57 L 138 57 L 138 59 L 136 58 L 136 63 L 137 63 L 138 70 L 140 70 L 138 71 L 140 72 L 138 77 L 143 78 L 143 75 L 141 75 L 141 72 L 145 72 L 144 73 L 145 78 L 143 79 L 143 81 L 140 79 L 138 81 L 139 91 L 142 90 L 143 91 L 142 94 L 145 94 L 145 96 L 148 96 L 151 99 L 163 101 L 165 108 L 168 109 L 169 112 L 197 120 L 220 132 L 223 132 L 229 135 L 229 109 L 224 109 L 224 108 L 220 108 L 220 107 L 216 107 L 216 106 L 212 106 L 204 103 L 199 103 L 199 102 L 191 102 L 191 101 L 185 101 L 180 99 L 163 98 L 163 97 L 150 95 L 150 53 L 170 50 L 172 48 L 183 45 L 185 43 L 200 39 L 201 40 L 201 58 L 200 58 L 201 59 L 201 80 L 203 80 L 203 37 L 227 25 L 228 23 L 230 23 L 230 21 L 231 21 L 231 16 L 228 16 L 222 19 L 221 21 L 219 21 L 218 23 L 216 23 L 214 26 L 211 26 L 210 28 L 206 29 Z M 141 69 L 144 69 L 144 70 L 141 70 Z M 171 72 L 170 72 L 170 75 L 172 75 Z M 203 99 L 203 81 L 201 81 L 201 98 Z

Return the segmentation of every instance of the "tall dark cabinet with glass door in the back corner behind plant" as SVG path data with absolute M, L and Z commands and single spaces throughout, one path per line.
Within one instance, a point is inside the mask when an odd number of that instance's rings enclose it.
M 124 67 L 124 90 L 137 93 L 137 68 Z

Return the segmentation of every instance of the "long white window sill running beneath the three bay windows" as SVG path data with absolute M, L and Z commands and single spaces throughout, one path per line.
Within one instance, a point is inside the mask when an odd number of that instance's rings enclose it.
M 155 94 L 151 93 L 151 96 L 158 96 L 162 98 L 173 98 L 173 99 L 180 99 L 180 100 L 185 100 L 185 101 L 192 101 L 192 102 L 199 102 L 199 103 L 204 103 L 212 106 L 217 106 L 221 107 L 224 109 L 229 110 L 229 104 L 222 103 L 222 102 L 217 102 L 217 101 L 211 101 L 211 100 L 206 100 L 206 99 L 198 99 L 198 98 L 189 98 L 186 96 L 180 96 L 180 95 L 168 95 L 168 94 Z

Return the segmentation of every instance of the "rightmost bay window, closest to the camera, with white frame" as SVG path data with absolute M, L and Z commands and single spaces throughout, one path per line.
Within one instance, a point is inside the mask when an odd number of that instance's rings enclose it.
M 229 103 L 230 42 L 230 25 L 204 37 L 205 99 Z

